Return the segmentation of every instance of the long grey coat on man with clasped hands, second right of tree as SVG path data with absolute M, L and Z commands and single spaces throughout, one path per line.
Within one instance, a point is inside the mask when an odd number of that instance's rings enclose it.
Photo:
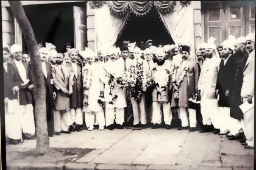
M 69 90 L 69 77 L 71 70 L 65 65 L 55 65 L 52 67 L 52 78 L 56 91 L 56 98 L 54 99 L 54 110 L 69 110 L 68 94 L 63 93 L 60 88 L 64 87 Z

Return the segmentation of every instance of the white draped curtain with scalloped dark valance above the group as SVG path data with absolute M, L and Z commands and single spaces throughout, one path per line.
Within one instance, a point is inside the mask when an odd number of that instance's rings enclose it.
M 194 15 L 190 1 L 89 1 L 89 3 L 95 8 L 97 49 L 115 44 L 129 12 L 143 16 L 154 5 L 174 42 L 187 44 L 193 54 L 195 52 Z

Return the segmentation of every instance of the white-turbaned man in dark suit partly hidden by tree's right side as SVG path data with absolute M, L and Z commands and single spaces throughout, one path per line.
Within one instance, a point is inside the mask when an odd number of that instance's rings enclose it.
M 46 48 L 40 48 L 39 49 L 40 57 L 41 57 L 41 63 L 42 63 L 42 69 L 44 74 L 44 86 L 46 90 L 46 120 L 47 120 L 47 127 L 48 127 L 48 135 L 54 136 L 54 116 L 53 116 L 53 101 L 52 97 L 55 99 L 56 93 L 53 91 L 53 86 L 51 84 L 52 79 L 52 68 L 51 65 L 46 62 L 46 59 L 48 58 L 48 49 Z

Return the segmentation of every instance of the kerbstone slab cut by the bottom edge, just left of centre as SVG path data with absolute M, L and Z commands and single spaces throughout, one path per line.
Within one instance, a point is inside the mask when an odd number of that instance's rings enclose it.
M 141 165 L 98 165 L 96 166 L 96 170 L 105 170 L 105 169 L 130 169 L 130 170 L 146 170 L 147 166 L 141 166 Z

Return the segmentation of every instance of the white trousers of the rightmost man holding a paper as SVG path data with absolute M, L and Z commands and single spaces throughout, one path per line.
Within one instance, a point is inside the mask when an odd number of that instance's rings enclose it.
M 247 97 L 243 97 L 243 102 L 246 101 Z M 246 143 L 254 147 L 254 107 L 244 113 L 244 132 Z

